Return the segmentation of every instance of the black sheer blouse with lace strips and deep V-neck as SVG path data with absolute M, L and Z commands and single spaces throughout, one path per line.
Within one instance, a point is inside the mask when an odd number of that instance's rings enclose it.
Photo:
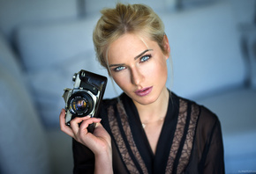
M 114 173 L 224 173 L 220 121 L 206 107 L 171 93 L 155 154 L 131 98 L 123 93 L 101 108 Z M 74 140 L 72 150 L 74 173 L 94 173 L 94 154 Z

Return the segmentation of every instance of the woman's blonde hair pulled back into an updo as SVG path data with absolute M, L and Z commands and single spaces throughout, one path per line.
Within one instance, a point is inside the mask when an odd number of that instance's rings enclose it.
M 102 17 L 94 28 L 93 40 L 98 61 L 108 67 L 108 50 L 112 42 L 124 33 L 142 33 L 154 40 L 167 54 L 163 46 L 164 25 L 161 18 L 144 4 L 117 4 L 114 9 L 101 11 Z

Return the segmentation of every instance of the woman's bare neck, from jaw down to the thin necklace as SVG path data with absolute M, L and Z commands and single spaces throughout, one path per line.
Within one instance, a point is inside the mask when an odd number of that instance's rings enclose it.
M 142 123 L 162 120 L 166 115 L 169 105 L 169 91 L 167 88 L 163 89 L 159 98 L 150 105 L 140 105 L 136 102 L 134 104 L 137 107 Z

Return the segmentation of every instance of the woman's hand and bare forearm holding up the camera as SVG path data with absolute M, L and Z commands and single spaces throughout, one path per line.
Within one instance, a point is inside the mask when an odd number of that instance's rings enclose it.
M 105 128 L 102 127 L 101 119 L 91 118 L 90 116 L 77 117 L 71 120 L 71 127 L 68 127 L 64 118 L 65 111 L 62 109 L 59 115 L 61 130 L 94 152 L 94 174 L 102 173 L 102 171 L 106 174 L 112 174 L 111 138 Z M 81 123 L 80 126 L 79 123 Z M 87 131 L 87 127 L 92 123 L 96 123 L 93 134 Z

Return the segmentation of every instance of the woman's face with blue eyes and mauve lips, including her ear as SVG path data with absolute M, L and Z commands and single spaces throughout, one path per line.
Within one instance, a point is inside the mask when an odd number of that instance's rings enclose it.
M 169 52 L 169 42 L 164 38 Z M 109 70 L 117 85 L 140 105 L 154 103 L 166 91 L 166 60 L 158 44 L 138 35 L 125 33 L 109 47 Z

